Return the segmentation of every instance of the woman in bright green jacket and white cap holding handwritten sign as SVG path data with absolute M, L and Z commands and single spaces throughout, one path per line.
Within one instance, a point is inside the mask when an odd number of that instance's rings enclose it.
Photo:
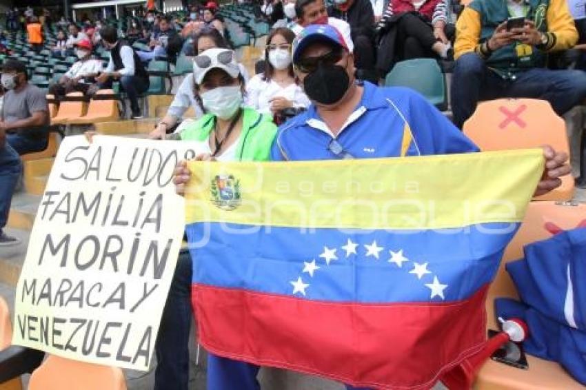
M 183 130 L 181 139 L 196 143 L 194 150 L 201 151 L 196 159 L 267 161 L 276 134 L 276 126 L 272 123 L 272 116 L 260 114 L 252 108 L 242 107 L 245 81 L 236 63 L 234 52 L 223 48 L 205 50 L 194 59 L 193 76 L 196 84 L 195 98 L 207 114 Z M 176 179 L 190 175 L 185 161 L 176 168 L 175 175 Z M 181 192 L 181 188 L 178 192 Z M 188 339 L 191 313 L 188 312 L 185 315 L 188 311 L 185 307 L 190 307 L 191 271 L 189 256 L 187 259 L 185 256 L 180 256 L 159 330 L 156 349 L 159 367 L 155 375 L 155 389 L 188 388 Z M 174 291 L 183 292 L 181 307 L 172 307 L 174 305 L 170 303 L 171 300 L 176 301 L 175 298 L 179 298 L 172 297 L 172 294 L 175 294 Z M 178 321 L 180 318 L 183 319 Z M 177 334 L 178 332 L 181 334 Z M 166 341 L 181 339 L 185 342 Z M 178 351 L 180 351 L 179 354 Z M 167 367 L 169 371 L 164 367 Z M 180 376 L 177 372 L 179 369 L 182 370 Z M 258 370 L 258 367 L 210 354 L 208 389 L 238 388 L 238 385 L 233 387 L 230 380 L 241 375 L 233 376 L 231 373 L 243 370 L 252 373 Z M 174 374 L 174 378 L 170 378 L 171 374 Z M 171 382 L 176 383 L 176 386 L 172 386 Z

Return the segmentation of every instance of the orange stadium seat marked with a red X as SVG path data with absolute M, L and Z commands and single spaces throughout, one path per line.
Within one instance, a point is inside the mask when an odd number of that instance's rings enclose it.
M 569 154 L 565 123 L 543 100 L 496 99 L 479 103 L 463 131 L 481 150 L 552 145 Z M 569 201 L 573 197 L 574 177 L 569 174 L 562 178 L 561 187 L 535 200 Z

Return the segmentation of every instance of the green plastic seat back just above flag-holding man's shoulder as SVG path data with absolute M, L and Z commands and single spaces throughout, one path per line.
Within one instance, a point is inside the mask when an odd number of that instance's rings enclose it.
M 412 88 L 440 110 L 445 110 L 445 81 L 434 59 L 410 59 L 396 63 L 385 78 L 385 86 Z

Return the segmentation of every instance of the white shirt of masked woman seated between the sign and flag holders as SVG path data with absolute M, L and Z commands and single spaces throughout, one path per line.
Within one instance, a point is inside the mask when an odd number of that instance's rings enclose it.
M 305 92 L 296 83 L 283 88 L 274 80 L 264 81 L 262 74 L 256 74 L 246 84 L 246 107 L 254 108 L 262 113 L 272 114 L 270 99 L 276 96 L 292 101 L 296 108 L 309 107 L 311 104 Z

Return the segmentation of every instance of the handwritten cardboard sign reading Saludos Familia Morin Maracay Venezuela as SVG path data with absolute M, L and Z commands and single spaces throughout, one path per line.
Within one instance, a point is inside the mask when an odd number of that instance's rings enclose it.
M 66 137 L 17 285 L 15 345 L 147 370 L 184 229 L 181 141 Z

